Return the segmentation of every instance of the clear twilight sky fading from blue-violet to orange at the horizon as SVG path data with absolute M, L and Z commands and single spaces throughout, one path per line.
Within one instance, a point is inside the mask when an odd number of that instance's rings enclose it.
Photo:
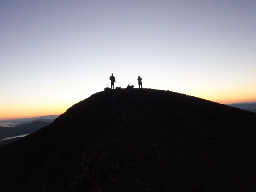
M 256 1 L 0 0 L 0 119 L 114 85 L 256 101 Z

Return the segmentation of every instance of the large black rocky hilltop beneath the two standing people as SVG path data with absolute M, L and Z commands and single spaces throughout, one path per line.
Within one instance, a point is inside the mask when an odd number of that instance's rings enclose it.
M 185 94 L 103 91 L 0 147 L 0 191 L 255 191 L 255 128 Z

